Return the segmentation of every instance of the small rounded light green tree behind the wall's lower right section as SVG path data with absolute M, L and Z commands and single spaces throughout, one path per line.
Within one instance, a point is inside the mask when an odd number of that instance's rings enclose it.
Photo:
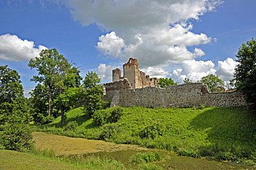
M 224 86 L 224 82 L 221 79 L 219 79 L 219 76 L 212 74 L 202 77 L 200 82 L 208 86 L 210 93 L 212 93 L 215 87 Z

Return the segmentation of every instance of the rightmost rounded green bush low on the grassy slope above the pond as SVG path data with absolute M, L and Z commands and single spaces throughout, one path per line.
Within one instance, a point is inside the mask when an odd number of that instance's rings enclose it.
M 156 122 L 153 122 L 151 124 L 148 124 L 145 126 L 140 132 L 139 136 L 140 138 L 147 138 L 147 139 L 153 139 L 158 137 L 158 135 L 163 135 L 164 127 L 163 124 L 159 124 Z

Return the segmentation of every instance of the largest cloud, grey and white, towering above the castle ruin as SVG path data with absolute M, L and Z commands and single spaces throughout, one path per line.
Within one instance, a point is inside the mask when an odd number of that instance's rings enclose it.
M 192 32 L 190 19 L 214 10 L 220 0 L 67 0 L 75 21 L 110 32 L 96 46 L 103 55 L 126 62 L 135 57 L 142 68 L 181 63 L 205 55 L 200 48 L 211 37 Z

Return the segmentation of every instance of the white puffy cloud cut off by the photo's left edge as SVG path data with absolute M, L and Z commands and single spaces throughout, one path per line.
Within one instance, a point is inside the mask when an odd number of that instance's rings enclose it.
M 20 39 L 17 35 L 0 35 L 0 59 L 12 62 L 28 61 L 38 57 L 45 46 L 35 48 L 34 41 Z

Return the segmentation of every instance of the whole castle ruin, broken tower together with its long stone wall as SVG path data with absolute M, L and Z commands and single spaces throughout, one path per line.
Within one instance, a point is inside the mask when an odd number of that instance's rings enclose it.
M 113 70 L 113 82 L 103 84 L 103 100 L 110 101 L 113 106 L 156 107 L 192 107 L 192 106 L 246 106 L 244 94 L 234 91 L 230 93 L 209 93 L 208 87 L 202 83 L 189 83 L 166 88 L 158 87 L 157 78 L 149 78 L 138 70 L 137 59 L 129 59 L 123 65 L 124 75 L 119 68 Z

